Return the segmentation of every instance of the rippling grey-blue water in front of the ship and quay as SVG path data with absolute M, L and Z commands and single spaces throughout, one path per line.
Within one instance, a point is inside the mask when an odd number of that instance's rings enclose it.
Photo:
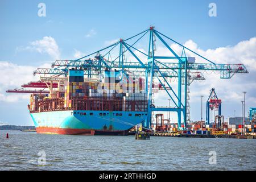
M 255 139 L 135 140 L 0 130 L 0 170 L 256 170 L 255 151 Z

